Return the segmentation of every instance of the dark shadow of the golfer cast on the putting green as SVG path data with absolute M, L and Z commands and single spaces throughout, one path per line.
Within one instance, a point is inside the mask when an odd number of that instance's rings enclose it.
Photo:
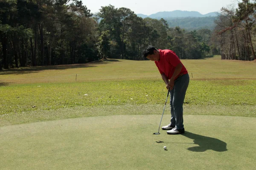
M 194 139 L 193 142 L 199 145 L 199 146 L 189 147 L 187 150 L 190 150 L 193 152 L 204 152 L 206 150 L 214 150 L 217 152 L 227 151 L 227 143 L 219 139 L 211 138 L 208 136 L 201 136 L 188 131 L 185 131 L 185 133 L 183 133 L 182 135 L 186 136 L 187 138 Z

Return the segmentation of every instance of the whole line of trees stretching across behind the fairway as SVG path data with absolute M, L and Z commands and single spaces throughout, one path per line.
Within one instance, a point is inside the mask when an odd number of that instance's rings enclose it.
M 245 21 L 247 10 L 239 6 L 230 16 L 230 10 L 223 9 L 215 31 L 186 31 L 170 28 L 163 18 L 143 19 L 128 8 L 111 5 L 92 14 L 79 0 L 1 0 L 0 69 L 106 58 L 143 60 L 142 51 L 148 45 L 171 49 L 181 59 L 201 59 L 210 54 L 249 59 L 255 19 L 250 13 Z M 233 25 L 227 27 L 228 21 Z M 244 43 L 241 33 L 247 38 Z

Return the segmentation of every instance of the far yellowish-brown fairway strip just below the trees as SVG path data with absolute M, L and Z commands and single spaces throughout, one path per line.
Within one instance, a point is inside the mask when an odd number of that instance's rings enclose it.
M 256 79 L 256 62 L 221 60 L 220 56 L 182 62 L 191 78 L 193 74 L 193 79 Z M 160 79 L 154 62 L 109 59 L 87 64 L 0 71 L 0 85 L 141 79 Z

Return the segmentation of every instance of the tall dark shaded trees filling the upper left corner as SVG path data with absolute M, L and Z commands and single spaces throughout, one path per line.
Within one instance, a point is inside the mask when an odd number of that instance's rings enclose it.
M 14 67 L 13 63 L 18 68 L 98 58 L 96 23 L 81 1 L 3 0 L 0 6 L 0 58 L 4 68 Z M 84 57 L 89 51 L 93 52 Z

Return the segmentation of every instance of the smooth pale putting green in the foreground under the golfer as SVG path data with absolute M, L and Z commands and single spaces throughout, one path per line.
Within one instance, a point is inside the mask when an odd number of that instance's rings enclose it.
M 183 135 L 152 135 L 160 118 L 98 116 L 0 127 L 0 169 L 256 169 L 256 118 L 185 115 Z M 162 125 L 169 118 L 164 115 Z

